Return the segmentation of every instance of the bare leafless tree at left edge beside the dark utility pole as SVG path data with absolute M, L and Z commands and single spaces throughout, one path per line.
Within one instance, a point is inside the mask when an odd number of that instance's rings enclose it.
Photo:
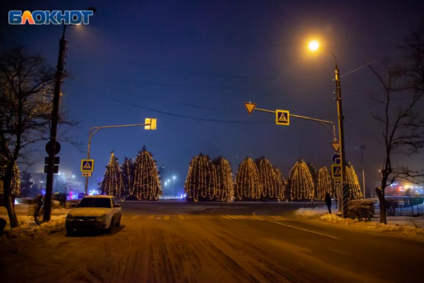
M 10 182 L 15 161 L 30 162 L 31 145 L 48 139 L 54 70 L 39 55 L 14 47 L 0 55 L 0 162 L 10 226 L 18 226 Z

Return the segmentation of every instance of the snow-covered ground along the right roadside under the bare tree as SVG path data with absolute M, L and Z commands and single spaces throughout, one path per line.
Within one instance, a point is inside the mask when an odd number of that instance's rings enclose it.
M 374 216 L 369 222 L 359 222 L 352 219 L 343 219 L 336 215 L 337 211 L 333 208 L 332 214 L 329 214 L 327 206 L 318 206 L 315 209 L 299 208 L 296 213 L 299 216 L 307 216 L 355 229 L 424 237 L 424 216 L 387 216 L 388 225 L 384 225 L 380 224 L 378 216 Z

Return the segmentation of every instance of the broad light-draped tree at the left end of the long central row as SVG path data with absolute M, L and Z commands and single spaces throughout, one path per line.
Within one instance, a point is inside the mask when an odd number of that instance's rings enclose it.
M 184 190 L 188 201 L 209 201 L 216 194 L 216 169 L 208 155 L 199 153 L 190 162 Z

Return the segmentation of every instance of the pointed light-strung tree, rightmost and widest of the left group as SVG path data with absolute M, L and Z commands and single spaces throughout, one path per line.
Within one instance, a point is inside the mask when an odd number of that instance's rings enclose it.
M 133 185 L 129 194 L 139 200 L 158 200 L 162 194 L 156 161 L 144 145 L 134 161 Z

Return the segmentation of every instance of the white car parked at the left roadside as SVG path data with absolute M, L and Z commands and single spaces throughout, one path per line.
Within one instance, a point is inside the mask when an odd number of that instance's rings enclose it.
M 103 229 L 108 233 L 121 225 L 121 206 L 109 195 L 86 196 L 66 215 L 66 233 Z

